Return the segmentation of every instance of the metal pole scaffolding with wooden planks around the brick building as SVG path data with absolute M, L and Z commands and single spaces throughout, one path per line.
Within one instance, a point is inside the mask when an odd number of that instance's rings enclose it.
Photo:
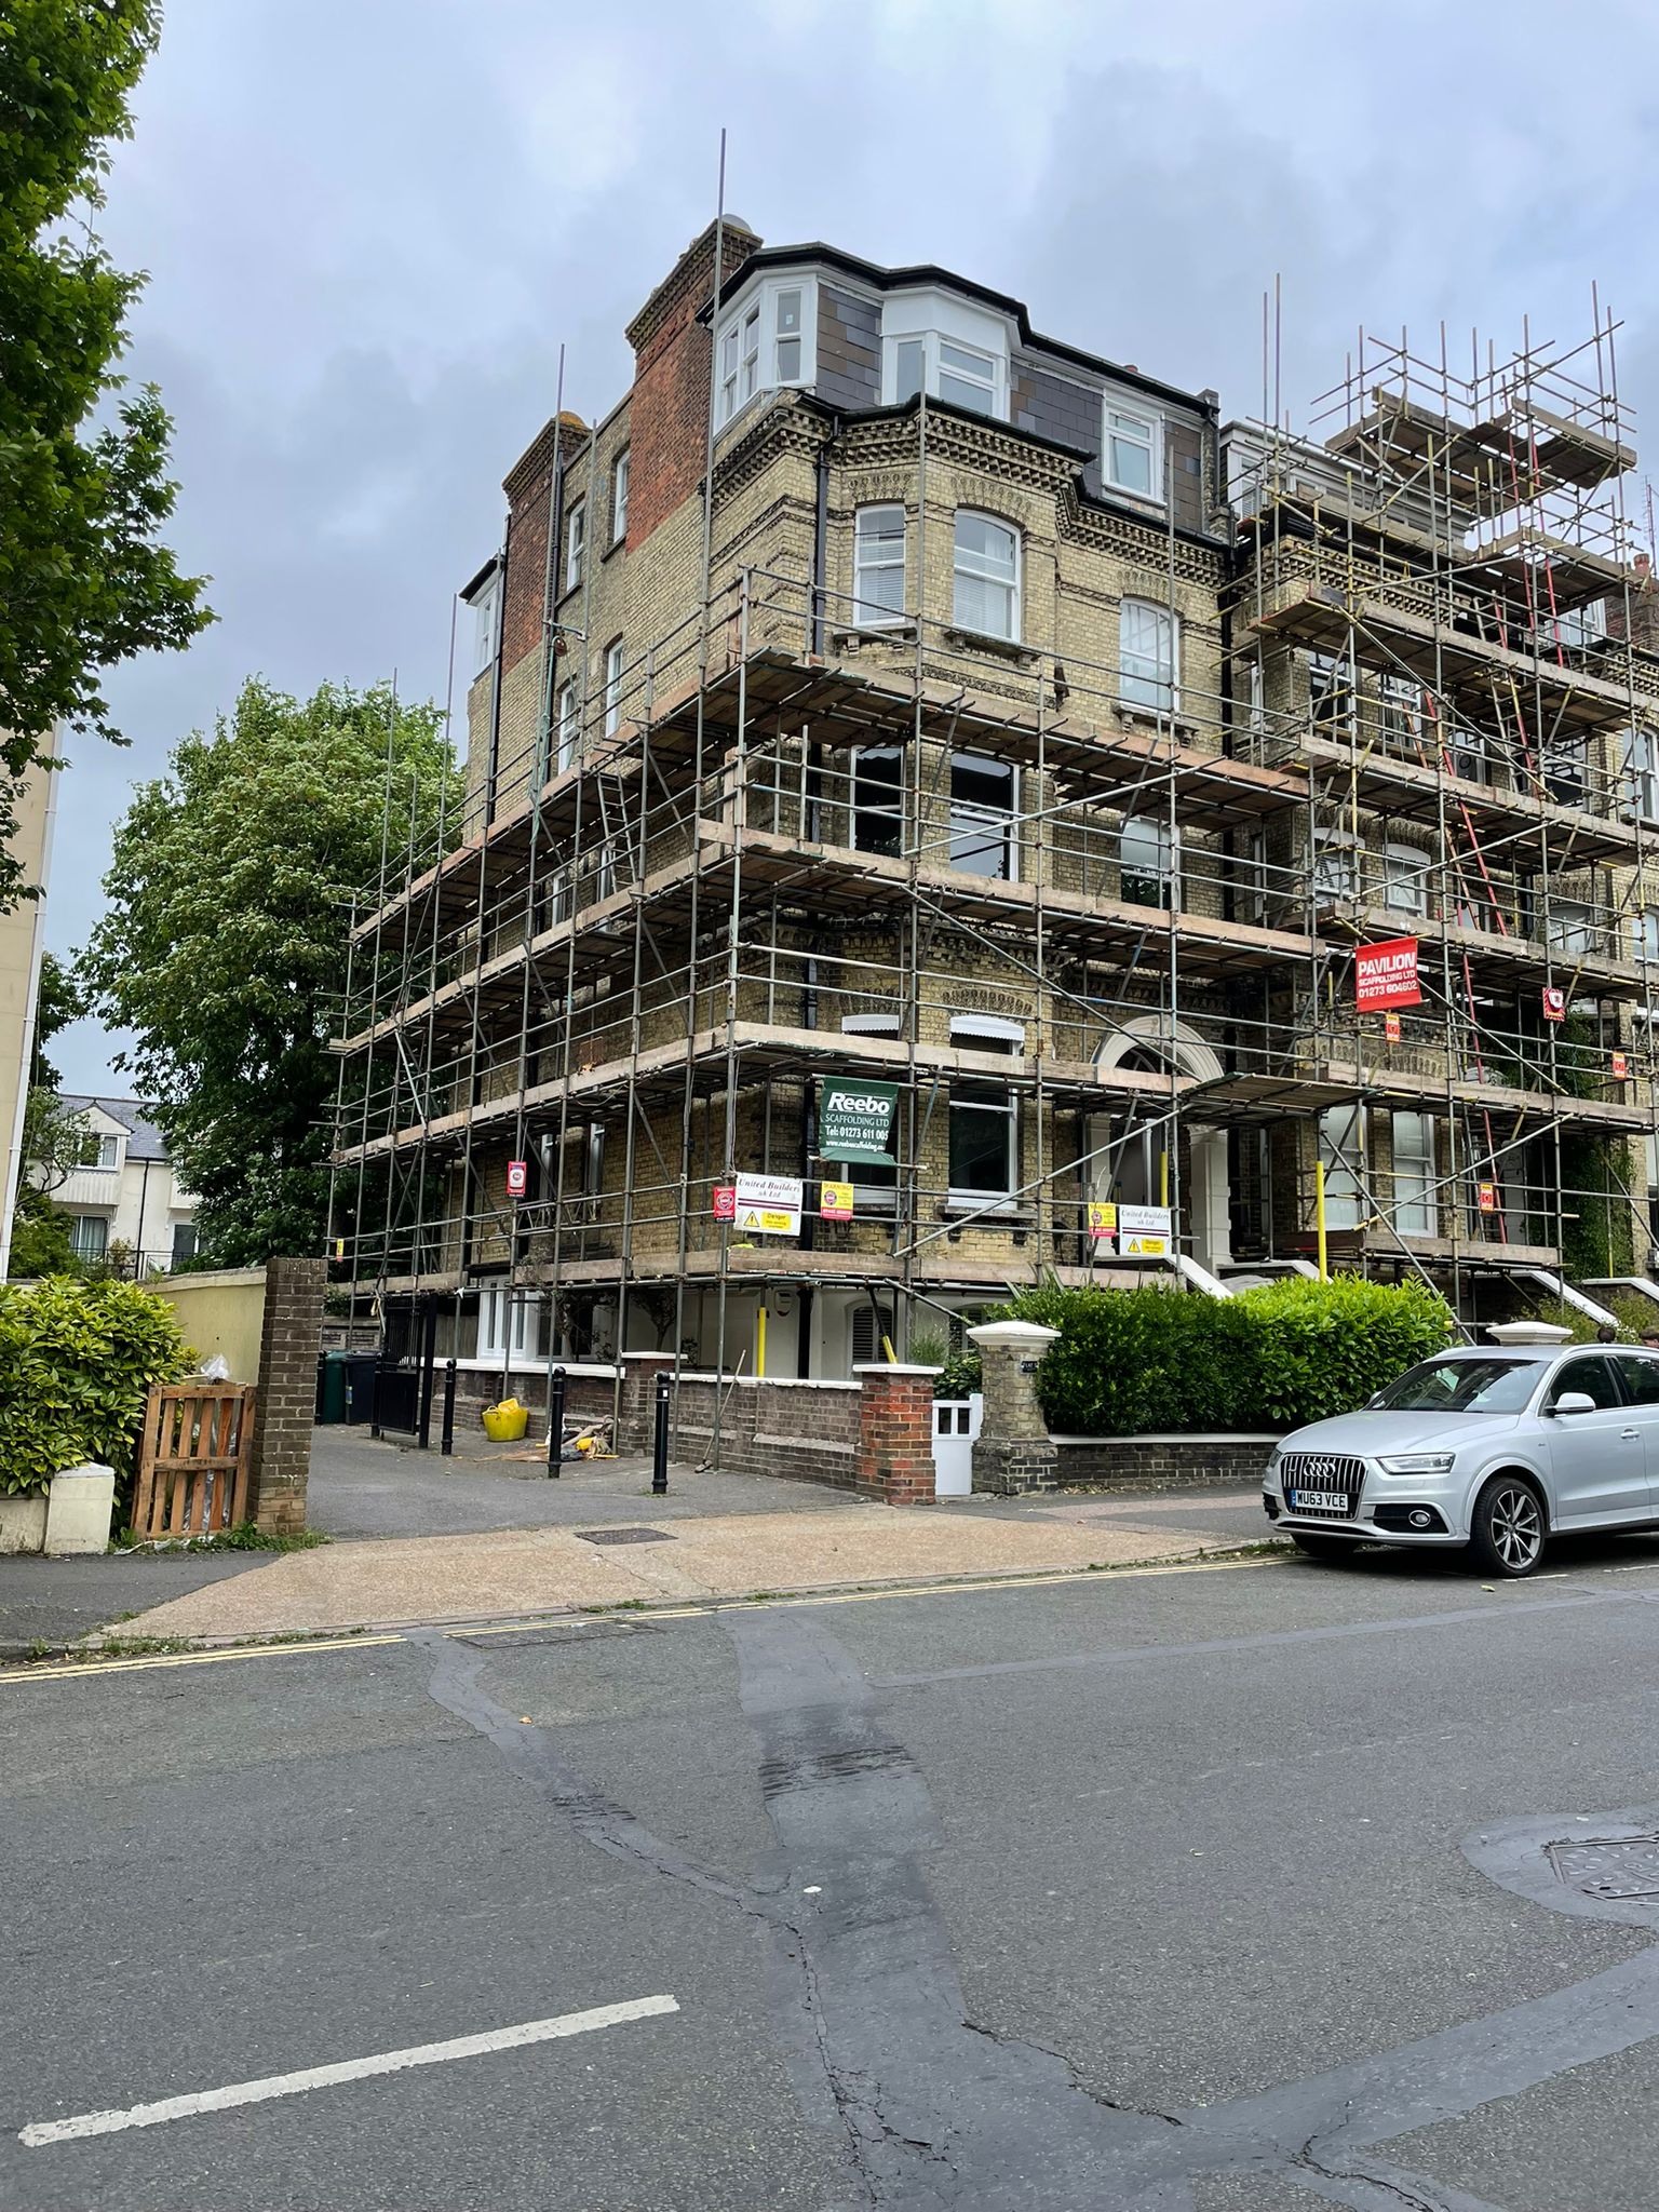
M 827 411 L 774 405 L 834 465 Z M 1168 1206 L 1199 1283 L 1307 1270 L 1316 1164 L 1340 1263 L 1460 1312 L 1559 1283 L 1590 1217 L 1646 1270 L 1659 657 L 1613 321 L 1469 376 L 1363 338 L 1314 434 L 1223 431 L 1210 549 L 1166 484 L 1164 668 L 929 611 L 953 436 L 922 396 L 898 617 L 823 557 L 726 564 L 710 436 L 701 595 L 604 684 L 586 595 L 555 619 L 560 449 L 533 739 L 352 920 L 352 1296 L 458 1329 L 489 1294 L 502 1371 L 544 1307 L 549 1360 L 644 1332 L 730 1374 L 779 1285 L 852 1292 L 902 1349 L 1024 1283 L 1146 1279 L 1091 1201 Z M 1210 686 L 1175 644 L 1194 588 Z M 500 657 L 491 684 L 500 723 Z M 1354 951 L 1391 936 L 1422 1000 L 1385 1024 Z M 830 1073 L 898 1086 L 896 1166 L 754 1245 L 714 1192 L 834 1175 Z

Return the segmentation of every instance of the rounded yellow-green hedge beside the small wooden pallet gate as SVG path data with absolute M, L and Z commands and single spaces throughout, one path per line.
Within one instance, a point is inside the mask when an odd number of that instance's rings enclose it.
M 150 1385 L 188 1371 L 173 1307 L 137 1283 L 0 1285 L 0 1491 L 82 1460 L 128 1475 Z

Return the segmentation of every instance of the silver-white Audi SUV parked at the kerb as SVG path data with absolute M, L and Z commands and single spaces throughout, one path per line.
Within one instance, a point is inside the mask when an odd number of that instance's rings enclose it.
M 1360 1544 L 1467 1544 L 1531 1575 L 1553 1535 L 1659 1526 L 1659 1352 L 1442 1352 L 1358 1413 L 1283 1438 L 1267 1520 L 1316 1559 Z

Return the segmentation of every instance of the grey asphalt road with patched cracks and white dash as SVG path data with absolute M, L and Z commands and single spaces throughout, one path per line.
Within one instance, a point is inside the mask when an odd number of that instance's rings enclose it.
M 1652 2212 L 1657 1690 L 1652 1542 L 0 1683 L 0 2203 Z

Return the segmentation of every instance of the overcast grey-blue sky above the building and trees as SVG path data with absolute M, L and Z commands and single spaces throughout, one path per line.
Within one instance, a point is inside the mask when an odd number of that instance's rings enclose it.
M 553 411 L 624 392 L 624 323 L 714 215 L 938 261 L 1037 330 L 1261 407 L 1356 325 L 1467 358 L 1624 319 L 1659 385 L 1650 0 L 168 0 L 104 234 L 150 270 L 128 372 L 173 409 L 173 544 L 219 624 L 111 681 L 131 750 L 62 790 L 49 942 L 97 914 L 131 783 L 250 672 L 442 697 L 458 584 Z M 1637 425 L 1641 431 L 1641 422 Z M 111 1040 L 66 1088 L 122 1091 Z

